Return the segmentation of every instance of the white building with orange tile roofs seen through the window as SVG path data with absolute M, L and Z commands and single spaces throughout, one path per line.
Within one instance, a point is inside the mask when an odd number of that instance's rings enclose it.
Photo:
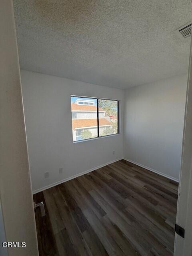
M 71 103 L 73 140 L 82 140 L 84 130 L 90 130 L 93 137 L 97 137 L 97 107 L 94 100 L 81 100 Z M 105 110 L 99 108 L 100 133 L 111 127 L 110 117 L 105 116 Z

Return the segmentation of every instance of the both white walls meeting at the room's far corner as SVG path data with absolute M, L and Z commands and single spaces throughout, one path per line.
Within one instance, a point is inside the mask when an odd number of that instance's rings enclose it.
M 24 70 L 21 75 L 34 192 L 123 156 L 178 180 L 186 76 L 123 91 Z M 124 139 L 120 116 L 120 135 L 73 143 L 70 95 L 120 100 Z

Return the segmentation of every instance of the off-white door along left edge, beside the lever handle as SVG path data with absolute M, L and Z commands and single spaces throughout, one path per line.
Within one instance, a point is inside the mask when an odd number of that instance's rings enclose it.
M 1 242 L 26 243 L 8 255 L 38 256 L 12 0 L 0 0 L 0 202 Z

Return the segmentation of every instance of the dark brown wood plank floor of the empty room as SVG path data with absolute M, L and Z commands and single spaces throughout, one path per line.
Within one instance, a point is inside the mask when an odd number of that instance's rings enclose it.
M 177 194 L 125 160 L 35 194 L 40 256 L 171 256 Z

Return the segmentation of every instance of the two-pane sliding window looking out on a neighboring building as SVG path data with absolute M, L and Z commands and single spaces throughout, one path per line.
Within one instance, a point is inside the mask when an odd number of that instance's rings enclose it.
M 118 100 L 71 96 L 71 111 L 73 141 L 118 134 Z

